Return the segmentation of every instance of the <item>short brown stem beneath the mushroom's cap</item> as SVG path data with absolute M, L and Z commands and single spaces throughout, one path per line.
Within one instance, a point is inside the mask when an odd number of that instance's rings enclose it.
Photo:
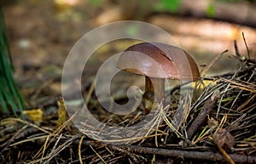
M 145 92 L 154 93 L 158 100 L 161 101 L 165 96 L 165 79 L 146 76 Z

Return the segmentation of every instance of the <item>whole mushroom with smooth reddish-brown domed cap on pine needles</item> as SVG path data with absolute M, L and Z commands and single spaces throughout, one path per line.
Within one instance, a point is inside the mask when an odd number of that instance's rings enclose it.
M 164 99 L 166 79 L 200 79 L 195 60 L 187 52 L 160 42 L 141 42 L 127 48 L 120 54 L 117 68 L 145 76 L 145 93 L 154 93 L 154 102 Z M 147 115 L 151 109 L 146 110 Z

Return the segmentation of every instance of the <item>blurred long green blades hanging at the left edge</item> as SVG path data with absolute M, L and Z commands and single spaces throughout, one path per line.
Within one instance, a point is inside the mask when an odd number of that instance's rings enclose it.
M 0 6 L 0 111 L 8 113 L 12 110 L 15 116 L 20 111 L 22 116 L 24 100 L 15 85 L 13 71 L 3 7 Z

